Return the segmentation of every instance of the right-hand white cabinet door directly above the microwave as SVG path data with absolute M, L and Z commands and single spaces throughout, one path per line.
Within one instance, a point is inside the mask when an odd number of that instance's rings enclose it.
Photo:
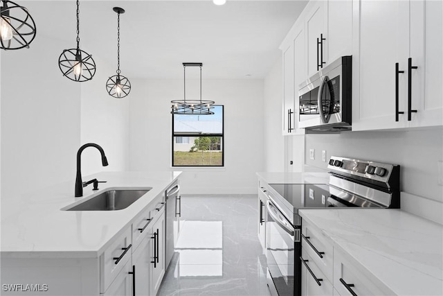
M 332 62 L 343 55 L 352 55 L 352 1 L 327 2 L 327 60 Z

